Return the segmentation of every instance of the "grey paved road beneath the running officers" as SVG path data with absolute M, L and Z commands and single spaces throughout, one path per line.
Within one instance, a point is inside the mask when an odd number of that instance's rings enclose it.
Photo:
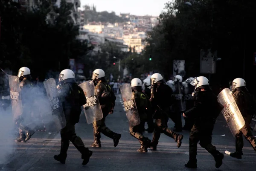
M 180 148 L 176 147 L 173 139 L 161 135 L 157 151 L 139 153 L 140 143 L 129 135 L 128 122 L 122 107 L 120 96 L 116 99 L 115 112 L 107 117 L 107 126 L 122 134 L 119 145 L 113 147 L 113 141 L 102 136 L 102 148 L 91 148 L 93 142 L 92 125 L 87 125 L 85 116 L 81 115 L 79 124 L 76 125 L 78 136 L 84 144 L 93 151 L 93 156 L 86 166 L 81 165 L 81 155 L 70 144 L 66 164 L 62 165 L 53 159 L 53 155 L 59 153 L 60 135 L 57 133 L 36 132 L 26 143 L 8 145 L 8 140 L 0 141 L 1 151 L 10 151 L 14 148 L 7 161 L 0 165 L 3 171 L 189 171 L 184 164 L 189 155 L 189 132 L 183 131 L 184 140 Z M 169 121 L 169 128 L 174 126 Z M 256 134 L 254 132 L 254 134 Z M 150 139 L 151 133 L 145 133 Z M 225 135 L 225 136 L 222 136 Z M 222 116 L 216 122 L 212 135 L 212 143 L 224 153 L 225 150 L 235 150 L 235 138 Z M 243 159 L 233 159 L 225 154 L 224 164 L 218 170 L 222 171 L 255 171 L 256 153 L 248 142 L 244 142 Z M 227 149 L 225 149 L 227 148 Z M 198 171 L 217 170 L 213 157 L 198 145 Z

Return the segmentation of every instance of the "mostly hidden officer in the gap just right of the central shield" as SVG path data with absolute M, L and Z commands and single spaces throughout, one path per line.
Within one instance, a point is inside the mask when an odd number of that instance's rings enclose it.
M 151 96 L 151 92 L 150 92 L 150 78 L 146 78 L 145 80 L 143 80 L 144 84 L 143 87 L 145 87 L 144 93 L 147 96 L 147 98 L 149 99 Z M 154 119 L 152 117 L 152 110 L 151 110 L 151 104 L 148 104 L 146 113 L 147 113 L 147 124 L 148 124 L 148 128 L 146 129 L 146 131 L 148 131 L 148 133 L 152 133 L 154 131 Z M 145 129 L 145 126 L 144 126 Z

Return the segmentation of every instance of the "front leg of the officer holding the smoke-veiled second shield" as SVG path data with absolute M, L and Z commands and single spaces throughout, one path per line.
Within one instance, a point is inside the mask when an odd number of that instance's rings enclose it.
M 65 164 L 66 158 L 67 158 L 67 150 L 69 147 L 69 125 L 67 124 L 65 128 L 61 130 L 61 152 L 57 156 L 54 156 L 54 159 L 61 162 L 62 164 Z

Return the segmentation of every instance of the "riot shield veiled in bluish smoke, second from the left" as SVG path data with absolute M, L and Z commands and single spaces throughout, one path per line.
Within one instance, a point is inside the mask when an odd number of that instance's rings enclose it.
M 66 126 L 61 99 L 59 98 L 56 82 L 53 78 L 44 81 L 44 87 L 49 99 L 51 114 L 44 116 L 44 124 L 47 131 L 59 131 Z

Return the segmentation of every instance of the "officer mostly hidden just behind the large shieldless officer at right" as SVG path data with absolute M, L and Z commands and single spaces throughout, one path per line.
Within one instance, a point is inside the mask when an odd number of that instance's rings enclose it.
M 193 96 L 192 93 L 194 91 L 194 86 L 192 86 L 190 83 L 194 80 L 193 77 L 190 77 L 188 79 L 186 79 L 186 81 L 184 81 L 182 84 L 184 86 L 184 100 L 186 102 L 186 109 L 191 109 L 192 107 L 194 107 L 194 101 L 193 101 Z M 191 130 L 191 128 L 194 125 L 194 119 L 188 119 L 188 118 L 184 118 L 185 120 L 185 125 L 183 127 L 183 130 Z

